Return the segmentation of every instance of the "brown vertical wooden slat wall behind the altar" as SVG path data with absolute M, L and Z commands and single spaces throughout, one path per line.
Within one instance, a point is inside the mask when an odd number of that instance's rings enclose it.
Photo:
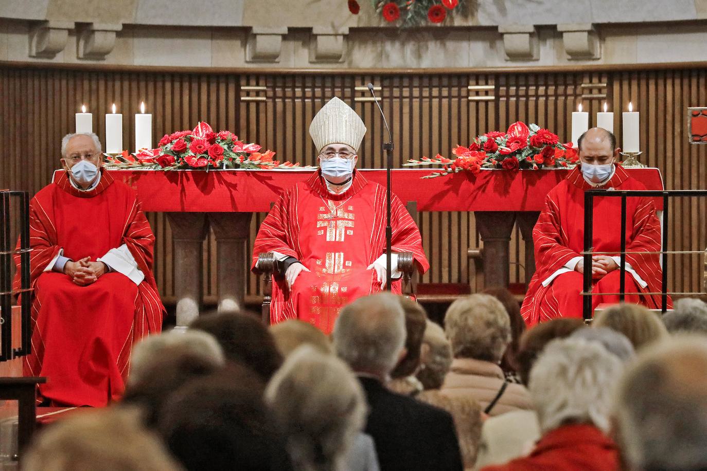
M 570 113 L 582 102 L 592 115 L 604 101 L 616 114 L 621 141 L 621 115 L 629 100 L 641 112 L 641 161 L 660 167 L 669 189 L 705 188 L 707 146 L 686 142 L 686 107 L 707 105 L 707 69 L 631 72 L 497 73 L 428 75 L 341 75 L 71 71 L 64 69 L 0 68 L 0 187 L 36 192 L 57 167 L 59 141 L 74 128 L 81 103 L 94 113 L 94 129 L 103 139 L 104 114 L 112 102 L 123 113 L 124 147 L 132 148 L 133 119 L 141 101 L 153 113 L 154 140 L 163 133 L 209 121 L 241 138 L 276 150 L 281 159 L 315 164 L 308 136 L 310 120 L 329 97 L 353 105 L 368 127 L 360 151 L 360 167 L 383 167 L 382 121 L 373 102 L 356 102 L 380 85 L 378 95 L 395 140 L 395 167 L 409 157 L 449 155 L 479 133 L 505 130 L 513 121 L 536 122 L 567 141 Z M 596 85 L 581 87 L 582 84 Z M 602 84 L 606 84 L 605 86 Z M 245 85 L 265 90 L 241 90 Z M 467 85 L 492 85 L 493 90 L 468 90 Z M 469 95 L 493 95 L 494 100 L 468 100 Z M 595 95 L 605 94 L 606 97 Z M 583 98 L 582 95 L 585 95 Z M 587 97 L 586 95 L 592 95 Z M 265 97 L 241 101 L 241 96 Z M 132 150 L 132 149 L 131 149 Z M 707 201 L 674 201 L 670 207 L 671 244 L 676 250 L 707 245 Z M 264 214 L 253 217 L 250 238 Z M 173 296 L 171 232 L 164 215 L 149 214 L 156 233 L 156 276 L 160 292 Z M 686 223 L 689 221 L 689 224 Z M 469 247 L 480 246 L 474 217 L 467 213 L 421 213 L 423 243 L 432 268 L 423 282 L 470 282 L 484 286 L 483 276 L 467 261 Z M 525 244 L 516 231 L 511 241 L 511 281 L 525 282 Z M 670 261 L 673 290 L 699 290 L 699 256 Z M 211 234 L 205 244 L 204 292 L 216 294 L 216 254 Z M 258 294 L 259 282 L 247 280 L 247 294 Z

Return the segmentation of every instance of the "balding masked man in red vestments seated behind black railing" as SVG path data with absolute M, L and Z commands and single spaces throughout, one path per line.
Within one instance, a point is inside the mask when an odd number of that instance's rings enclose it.
M 588 189 L 645 190 L 618 165 L 620 149 L 613 133 L 590 129 L 580 137 L 580 166 L 552 189 L 533 229 L 537 270 L 530 280 L 521 314 L 528 326 L 556 317 L 581 317 L 584 270 L 592 270 L 592 309 L 619 302 L 619 251 L 621 250 L 621 199 L 595 198 L 593 246 L 596 252 L 585 267 L 584 192 Z M 627 198 L 626 204 L 626 302 L 660 307 L 660 222 L 649 198 Z M 602 294 L 606 293 L 606 294 Z M 668 300 L 670 305 L 670 299 Z

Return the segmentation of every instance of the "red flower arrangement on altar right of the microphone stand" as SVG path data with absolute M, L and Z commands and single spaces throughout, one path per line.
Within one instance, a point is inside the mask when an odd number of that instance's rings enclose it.
M 537 124 L 518 121 L 505 133 L 491 131 L 477 136 L 469 147 L 457 145 L 452 149 L 456 158 L 437 154 L 435 158 L 408 160 L 405 166 L 443 165 L 422 178 L 443 177 L 457 172 L 477 174 L 481 169 L 539 169 L 542 167 L 573 167 L 579 160 L 572 143 L 561 144 L 559 137 L 541 129 Z

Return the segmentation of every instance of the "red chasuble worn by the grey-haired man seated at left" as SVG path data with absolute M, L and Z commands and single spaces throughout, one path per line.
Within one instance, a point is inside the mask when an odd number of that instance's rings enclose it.
M 117 400 L 132 344 L 162 327 L 164 308 L 152 274 L 155 237 L 132 189 L 101 172 L 90 191 L 78 191 L 64 173 L 30 202 L 35 292 L 32 353 L 25 357 L 24 374 L 46 376 L 40 395 L 60 405 L 104 406 Z M 59 249 L 74 261 L 86 256 L 95 261 L 122 244 L 145 275 L 140 285 L 110 272 L 78 286 L 64 273 L 44 271 Z M 19 288 L 19 278 L 15 285 Z

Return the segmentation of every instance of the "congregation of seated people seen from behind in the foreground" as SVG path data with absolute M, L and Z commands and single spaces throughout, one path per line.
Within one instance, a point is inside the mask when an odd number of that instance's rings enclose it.
M 373 294 L 331 335 L 205 312 L 138 342 L 122 399 L 45 427 L 22 469 L 707 469 L 706 335 L 699 299 L 526 330 L 501 289 L 442 325 Z

